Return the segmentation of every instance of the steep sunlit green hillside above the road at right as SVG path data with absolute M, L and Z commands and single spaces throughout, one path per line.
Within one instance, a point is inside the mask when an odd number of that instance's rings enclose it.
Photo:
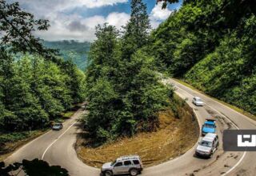
M 206 93 L 256 114 L 256 17 L 241 26 L 227 34 L 185 78 Z

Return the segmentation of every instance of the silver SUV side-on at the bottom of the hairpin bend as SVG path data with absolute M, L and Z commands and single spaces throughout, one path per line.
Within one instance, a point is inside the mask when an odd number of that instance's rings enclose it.
M 123 156 L 114 162 L 107 162 L 102 166 L 102 175 L 130 174 L 136 176 L 143 170 L 142 160 L 138 155 Z

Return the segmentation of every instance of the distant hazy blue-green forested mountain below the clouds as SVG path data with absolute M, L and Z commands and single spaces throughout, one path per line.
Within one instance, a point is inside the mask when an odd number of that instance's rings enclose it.
M 79 69 L 86 70 L 90 42 L 62 40 L 55 42 L 43 41 L 42 43 L 48 48 L 58 49 L 65 60 L 71 59 Z

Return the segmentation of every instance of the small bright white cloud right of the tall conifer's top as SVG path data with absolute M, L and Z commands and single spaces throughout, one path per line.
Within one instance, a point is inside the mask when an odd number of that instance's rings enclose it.
M 154 8 L 150 12 L 151 26 L 153 28 L 158 27 L 158 25 L 163 20 L 168 18 L 171 13 L 172 13 L 172 10 L 169 10 L 168 8 L 162 9 L 162 2 L 159 2 L 157 5 L 154 6 Z

